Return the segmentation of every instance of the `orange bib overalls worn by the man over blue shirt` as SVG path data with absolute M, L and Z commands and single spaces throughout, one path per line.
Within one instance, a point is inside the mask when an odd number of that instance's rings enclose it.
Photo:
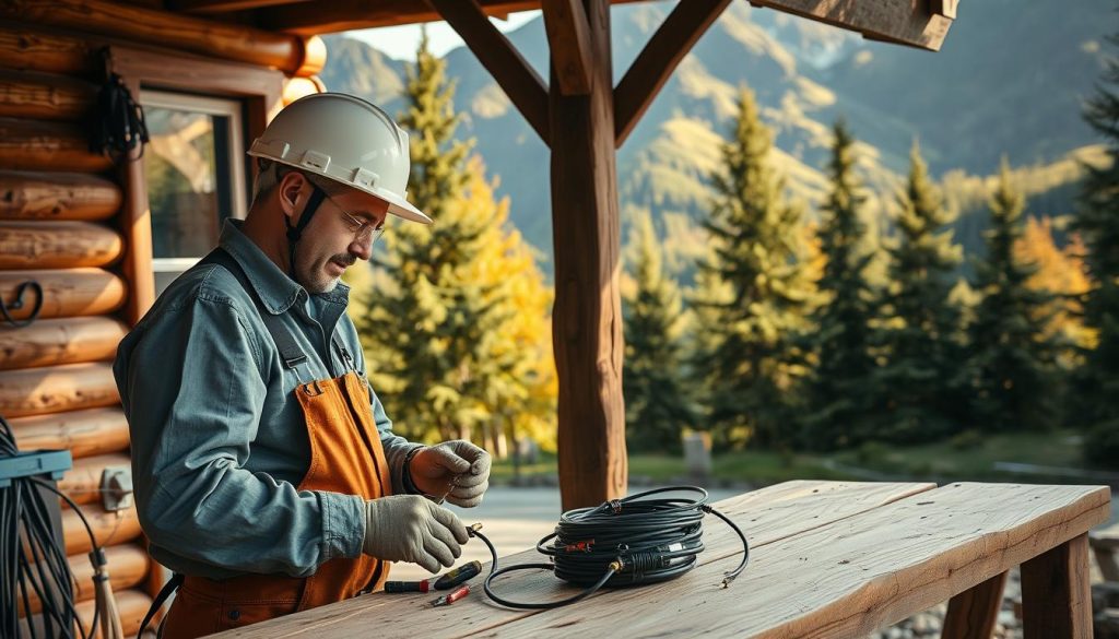
M 354 372 L 295 388 L 311 440 L 311 464 L 299 490 L 329 490 L 366 499 L 392 494 L 388 464 L 369 412 L 365 380 Z M 332 603 L 388 576 L 387 562 L 336 557 L 309 577 L 243 575 L 228 580 L 186 576 L 163 623 L 164 639 L 188 639 L 241 628 L 298 610 Z

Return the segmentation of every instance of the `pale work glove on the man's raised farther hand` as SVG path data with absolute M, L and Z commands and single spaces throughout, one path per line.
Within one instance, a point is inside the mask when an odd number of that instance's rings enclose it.
M 482 502 L 489 488 L 490 455 L 466 440 L 420 449 L 406 469 L 412 485 L 436 502 L 445 498 L 471 508 Z

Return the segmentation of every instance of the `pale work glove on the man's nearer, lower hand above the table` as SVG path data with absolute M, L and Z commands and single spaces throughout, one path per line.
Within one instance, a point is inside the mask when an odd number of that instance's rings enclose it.
M 450 567 L 469 539 L 467 527 L 446 508 L 419 495 L 393 495 L 365 502 L 361 552 L 391 562 L 420 564 L 427 572 Z

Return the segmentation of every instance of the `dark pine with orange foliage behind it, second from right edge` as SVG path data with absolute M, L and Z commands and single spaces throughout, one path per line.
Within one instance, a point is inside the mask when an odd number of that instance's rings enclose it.
M 987 256 L 976 266 L 982 295 L 970 327 L 971 351 L 966 373 L 971 387 L 971 419 L 989 432 L 1044 429 L 1054 422 L 1052 349 L 1044 339 L 1047 317 L 1038 311 L 1053 297 L 1027 285 L 1036 266 L 1015 255 L 1022 238 L 1023 196 L 1010 184 L 1003 160 L 990 199 Z

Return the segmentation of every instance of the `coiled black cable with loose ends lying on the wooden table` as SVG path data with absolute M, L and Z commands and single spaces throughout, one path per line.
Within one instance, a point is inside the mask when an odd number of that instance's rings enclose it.
M 647 499 L 661 492 L 688 491 L 698 492 L 700 497 Z M 506 608 L 547 610 L 575 603 L 604 585 L 659 583 L 694 568 L 698 554 L 704 549 L 702 521 L 707 513 L 726 521 L 742 539 L 742 561 L 736 568 L 723 574 L 723 588 L 726 588 L 745 570 L 750 544 L 734 521 L 707 505 L 707 491 L 697 486 L 647 490 L 624 499 L 605 501 L 594 508 L 564 513 L 555 533 L 536 543 L 537 552 L 552 557 L 548 564 L 518 564 L 498 570 L 497 549 L 478 532 L 480 525 L 468 528 L 468 532 L 485 542 L 493 557 L 485 584 L 486 594 L 492 601 Z M 492 583 L 499 575 L 530 568 L 553 571 L 560 579 L 586 588 L 574 596 L 545 603 L 509 601 L 493 593 Z

